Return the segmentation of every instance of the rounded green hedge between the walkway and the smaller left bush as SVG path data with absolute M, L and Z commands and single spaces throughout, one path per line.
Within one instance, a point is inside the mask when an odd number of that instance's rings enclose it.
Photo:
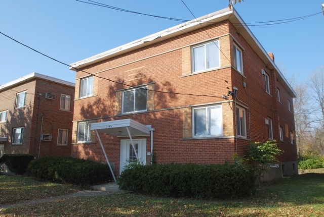
M 28 175 L 41 180 L 62 181 L 83 186 L 112 180 L 107 164 L 62 156 L 47 156 L 33 160 L 28 166 Z

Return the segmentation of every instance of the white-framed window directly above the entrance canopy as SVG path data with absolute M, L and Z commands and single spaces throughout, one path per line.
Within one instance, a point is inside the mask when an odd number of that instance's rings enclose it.
M 123 91 L 122 112 L 133 113 L 147 111 L 147 87 Z

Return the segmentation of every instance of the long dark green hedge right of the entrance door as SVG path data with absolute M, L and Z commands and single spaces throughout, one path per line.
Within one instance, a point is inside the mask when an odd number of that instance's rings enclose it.
M 119 187 L 161 196 L 224 199 L 251 196 L 255 182 L 249 165 L 137 165 L 121 173 Z

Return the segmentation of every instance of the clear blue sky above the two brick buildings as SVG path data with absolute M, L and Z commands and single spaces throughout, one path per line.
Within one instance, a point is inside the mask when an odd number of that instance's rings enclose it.
M 228 7 L 228 0 L 93 1 L 182 20 Z M 75 83 L 68 65 L 182 23 L 88 3 L 93 2 L 0 0 L 0 85 L 33 72 Z M 322 4 L 324 0 L 245 0 L 234 8 L 264 49 L 274 54 L 283 74 L 307 80 L 324 67 Z

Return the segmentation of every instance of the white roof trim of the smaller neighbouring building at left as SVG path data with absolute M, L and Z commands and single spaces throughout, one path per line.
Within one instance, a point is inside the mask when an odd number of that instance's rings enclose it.
M 0 86 L 0 90 L 2 90 L 4 88 L 8 89 L 9 87 L 12 87 L 12 86 L 15 86 L 15 85 L 24 83 L 24 82 L 29 81 L 29 80 L 32 80 L 34 78 L 40 78 L 40 79 L 52 81 L 52 82 L 55 82 L 55 83 L 64 84 L 64 85 L 71 86 L 71 87 L 75 87 L 75 83 L 68 82 L 68 81 L 64 81 L 64 80 L 61 80 L 61 79 L 58 79 L 58 78 L 53 78 L 51 76 L 47 76 L 47 75 L 43 75 L 43 74 L 39 74 L 39 73 L 33 72 L 33 73 L 30 73 L 30 74 L 25 75 L 23 77 L 20 77 L 20 78 L 18 78 L 16 80 L 10 81 L 10 82 L 8 82 L 8 83 L 6 83 L 4 85 L 1 85 Z

